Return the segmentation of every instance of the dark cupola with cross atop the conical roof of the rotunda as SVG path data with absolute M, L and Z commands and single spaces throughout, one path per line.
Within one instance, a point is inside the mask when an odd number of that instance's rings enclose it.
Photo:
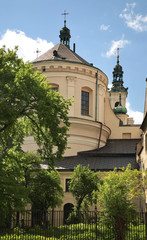
M 66 27 L 66 15 L 68 15 L 68 13 L 66 13 L 66 11 L 64 11 L 64 13 L 62 13 L 62 15 L 64 15 L 64 27 L 60 30 L 60 42 L 63 43 L 66 47 L 70 48 L 70 30 Z

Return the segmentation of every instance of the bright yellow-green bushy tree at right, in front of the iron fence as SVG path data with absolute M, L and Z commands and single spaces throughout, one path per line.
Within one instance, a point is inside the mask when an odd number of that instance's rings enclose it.
M 118 240 L 125 239 L 127 226 L 136 215 L 133 201 L 141 196 L 142 177 L 138 170 L 126 169 L 108 173 L 99 186 L 98 202 L 104 212 L 104 223 L 113 226 Z

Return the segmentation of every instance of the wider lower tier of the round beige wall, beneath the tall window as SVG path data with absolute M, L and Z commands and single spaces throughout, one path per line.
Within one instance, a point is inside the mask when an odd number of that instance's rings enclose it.
M 98 149 L 105 146 L 110 129 L 101 122 L 82 118 L 70 117 L 71 129 L 69 130 L 68 147 L 65 156 L 77 155 L 80 151 Z

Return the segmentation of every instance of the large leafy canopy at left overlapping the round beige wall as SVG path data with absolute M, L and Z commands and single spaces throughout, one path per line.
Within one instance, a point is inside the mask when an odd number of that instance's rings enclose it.
M 52 166 L 60 159 L 67 144 L 70 101 L 52 91 L 45 76 L 35 72 L 14 51 L 0 49 L 0 152 L 21 149 L 26 134 L 39 146 L 39 154 Z M 56 147 L 56 151 L 53 148 Z

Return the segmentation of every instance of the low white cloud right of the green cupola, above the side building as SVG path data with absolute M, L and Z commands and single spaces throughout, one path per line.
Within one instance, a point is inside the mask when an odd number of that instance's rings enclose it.
M 129 115 L 129 117 L 132 117 L 134 119 L 134 123 L 141 124 L 143 121 L 143 113 L 132 110 L 129 102 L 126 103 L 126 108 L 127 114 Z

